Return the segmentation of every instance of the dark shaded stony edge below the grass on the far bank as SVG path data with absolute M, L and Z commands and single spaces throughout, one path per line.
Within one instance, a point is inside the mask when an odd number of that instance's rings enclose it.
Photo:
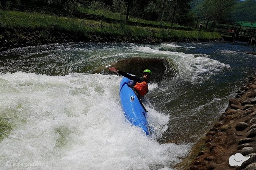
M 71 32 L 59 29 L 6 29 L 0 27 L 0 52 L 12 48 L 44 45 L 66 42 L 128 42 L 128 43 L 161 43 L 169 42 L 224 42 L 223 39 L 159 39 L 145 37 L 136 39 L 132 36 L 85 34 L 84 32 Z

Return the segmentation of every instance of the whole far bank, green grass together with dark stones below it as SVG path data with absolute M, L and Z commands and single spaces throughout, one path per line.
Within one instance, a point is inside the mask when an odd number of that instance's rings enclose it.
M 1 11 L 0 51 L 64 42 L 220 42 L 216 32 L 129 26 L 56 15 Z

